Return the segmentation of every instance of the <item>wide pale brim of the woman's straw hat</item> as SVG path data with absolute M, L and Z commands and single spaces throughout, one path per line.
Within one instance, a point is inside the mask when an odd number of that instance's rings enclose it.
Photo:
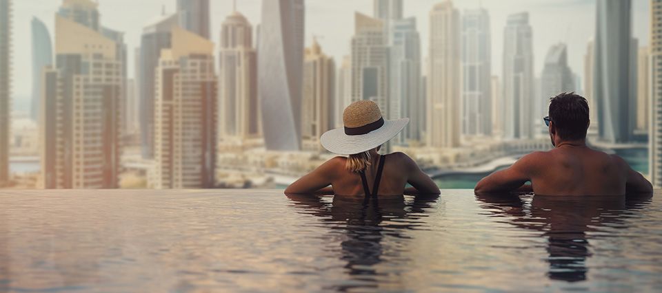
M 385 120 L 382 127 L 361 135 L 347 135 L 343 127 L 326 131 L 319 139 L 324 149 L 339 155 L 369 151 L 388 142 L 409 123 L 409 118 Z

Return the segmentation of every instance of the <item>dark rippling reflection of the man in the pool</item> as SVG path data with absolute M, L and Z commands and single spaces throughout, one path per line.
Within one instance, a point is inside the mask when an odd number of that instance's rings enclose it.
M 593 255 L 589 240 L 615 237 L 608 228 L 628 228 L 632 211 L 649 204 L 651 197 L 477 195 L 481 208 L 498 217 L 497 221 L 543 232 L 547 237 L 547 276 L 569 282 L 587 279 L 586 261 Z

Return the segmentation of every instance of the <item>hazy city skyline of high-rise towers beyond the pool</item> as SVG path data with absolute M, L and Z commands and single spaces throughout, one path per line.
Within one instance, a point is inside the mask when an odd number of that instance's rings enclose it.
M 422 28 L 403 9 L 413 2 L 373 0 L 372 14 L 353 12 L 353 32 L 341 41 L 350 52 L 337 62 L 321 50 L 319 40 L 327 36 L 306 27 L 311 16 L 305 0 L 263 0 L 259 23 L 233 1 L 218 43 L 208 32 L 214 30 L 209 22 L 216 22 L 205 9 L 210 1 L 179 0 L 176 12 L 163 8 L 141 28 L 139 47 L 106 23 L 99 2 L 60 2 L 54 10 L 54 65 L 48 66 L 48 52 L 37 50 L 46 47 L 32 50 L 32 75 L 43 68 L 33 79 L 39 78 L 44 104 L 41 153 L 28 154 L 41 158 L 41 176 L 25 178 L 48 188 L 114 188 L 128 186 L 131 178 L 152 188 L 208 188 L 296 175 L 331 155 L 319 146 L 319 135 L 341 126 L 343 107 L 357 100 L 376 101 L 385 119 L 412 118 L 412 127 L 385 144 L 384 152 L 408 153 L 432 174 L 487 167 L 521 149 L 547 150 L 539 121 L 544 100 L 558 91 L 583 92 L 574 87 L 582 83 L 568 65 L 568 44 L 553 43 L 546 54 L 536 54 L 536 40 L 549 38 L 534 30 L 527 10 L 508 14 L 501 25 L 487 8 L 437 1 Z M 636 92 L 632 69 L 639 52 L 630 37 L 631 12 L 630 0 L 599 1 L 592 12 L 596 30 L 583 41 L 594 51 L 579 52 L 588 69 L 582 72 L 590 76 L 585 84 L 600 108 L 594 109 L 599 128 L 589 137 L 592 143 L 643 146 L 645 129 L 631 126 L 639 113 L 614 102 L 649 100 L 641 89 L 643 95 L 630 95 Z M 605 24 L 610 14 L 620 21 Z M 48 25 L 32 20 L 35 45 L 48 43 Z M 502 32 L 494 33 L 495 27 Z M 494 52 L 501 55 L 500 73 L 494 72 Z M 545 66 L 536 68 L 539 58 Z M 614 69 L 623 66 L 630 70 Z M 604 82 L 617 74 L 623 82 Z M 616 119 L 611 113 L 625 115 Z M 21 125 L 26 116 L 16 117 Z M 497 121 L 501 125 L 490 125 Z M 605 127 L 623 123 L 628 126 L 622 134 L 605 135 Z M 15 156 L 30 134 L 12 131 Z

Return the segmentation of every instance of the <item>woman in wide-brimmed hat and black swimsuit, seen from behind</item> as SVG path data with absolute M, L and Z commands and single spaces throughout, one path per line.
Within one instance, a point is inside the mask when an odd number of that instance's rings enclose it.
M 343 128 L 324 133 L 325 149 L 345 157 L 328 160 L 285 189 L 285 193 L 333 193 L 363 196 L 439 194 L 439 187 L 404 153 L 379 155 L 382 144 L 397 135 L 409 118 L 384 120 L 375 102 L 360 100 L 343 113 Z M 407 188 L 406 184 L 413 188 Z M 327 186 L 331 186 L 328 188 Z

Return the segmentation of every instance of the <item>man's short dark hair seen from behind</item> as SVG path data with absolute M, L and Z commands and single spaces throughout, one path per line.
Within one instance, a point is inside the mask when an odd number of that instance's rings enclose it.
M 586 138 L 589 116 L 588 102 L 574 92 L 550 98 L 550 120 L 563 140 Z

